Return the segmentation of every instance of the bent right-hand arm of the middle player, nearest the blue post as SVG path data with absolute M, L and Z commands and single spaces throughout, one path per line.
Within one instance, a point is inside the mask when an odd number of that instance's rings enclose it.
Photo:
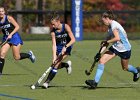
M 73 33 L 72 33 L 72 31 L 71 31 L 71 28 L 70 28 L 70 26 L 68 25 L 68 24 L 65 24 L 65 29 L 66 29 L 66 31 L 68 32 L 68 35 L 69 35 L 69 37 L 70 37 L 70 42 L 66 45 L 66 47 L 69 47 L 69 46 L 71 46 L 72 44 L 74 44 L 74 42 L 75 42 L 75 37 L 74 37 L 74 35 L 73 35 Z

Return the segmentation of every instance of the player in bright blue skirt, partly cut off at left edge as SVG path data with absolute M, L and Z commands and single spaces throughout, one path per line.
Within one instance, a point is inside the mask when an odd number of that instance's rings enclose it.
M 20 53 L 23 41 L 17 32 L 19 25 L 12 16 L 5 14 L 5 9 L 3 7 L 0 7 L 0 28 L 3 33 L 2 42 L 6 40 L 8 41 L 0 49 L 0 75 L 2 74 L 6 54 L 10 48 L 12 48 L 15 60 L 29 58 L 32 62 L 35 62 L 35 56 L 32 51 L 29 51 L 28 53 Z

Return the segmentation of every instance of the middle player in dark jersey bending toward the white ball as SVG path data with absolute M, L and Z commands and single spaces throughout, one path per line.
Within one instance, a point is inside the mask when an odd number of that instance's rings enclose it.
M 51 31 L 52 36 L 52 52 L 53 52 L 53 63 L 57 59 L 57 56 L 62 54 L 62 57 L 57 60 L 57 63 L 52 66 L 46 81 L 44 82 L 44 88 L 48 88 L 50 81 L 54 78 L 57 73 L 58 68 L 65 67 L 68 74 L 71 73 L 71 61 L 62 62 L 68 55 L 71 53 L 72 45 L 75 42 L 75 37 L 71 31 L 71 28 L 68 24 L 60 22 L 60 16 L 54 14 L 51 19 L 51 24 L 53 29 Z

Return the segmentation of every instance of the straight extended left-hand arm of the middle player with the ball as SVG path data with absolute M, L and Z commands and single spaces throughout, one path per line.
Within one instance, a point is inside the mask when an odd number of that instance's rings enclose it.
M 55 33 L 51 32 L 52 36 L 52 53 L 53 53 L 53 63 L 56 59 L 56 39 L 55 39 Z

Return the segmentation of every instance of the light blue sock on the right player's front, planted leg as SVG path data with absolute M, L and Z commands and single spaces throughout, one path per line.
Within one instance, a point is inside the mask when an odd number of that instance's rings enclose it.
M 104 72 L 104 64 L 98 64 L 98 68 L 97 68 L 97 71 L 96 71 L 96 75 L 95 75 L 95 82 L 99 82 L 102 74 Z

